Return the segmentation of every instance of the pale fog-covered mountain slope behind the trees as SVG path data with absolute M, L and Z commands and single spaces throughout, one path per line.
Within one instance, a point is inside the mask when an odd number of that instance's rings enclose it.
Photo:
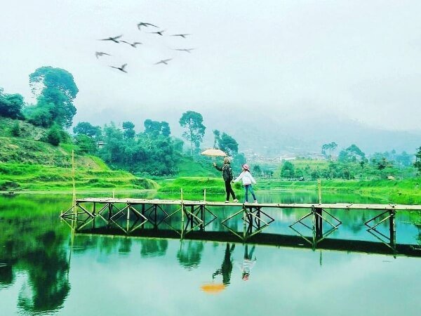
M 178 110 L 175 107 L 165 112 L 148 107 L 139 107 L 134 112 L 109 109 L 86 119 L 78 115 L 74 123 L 86 120 L 103 126 L 114 121 L 121 127 L 123 121 L 132 121 L 136 131 L 143 131 L 145 119 L 168 121 L 172 135 L 181 138 L 183 129 L 178 120 L 185 111 L 187 110 Z M 366 154 L 390 150 L 405 150 L 413 154 L 421 145 L 420 131 L 393 131 L 388 130 L 387 126 L 385 129 L 377 129 L 323 110 L 266 112 L 259 108 L 241 110 L 208 107 L 196 112 L 202 114 L 203 124 L 206 126 L 201 147 L 213 147 L 213 130 L 218 129 L 221 133 L 234 137 L 239 143 L 240 151 L 255 152 L 267 157 L 320 153 L 321 145 L 333 141 L 338 143 L 337 152 L 356 144 Z M 187 142 L 185 146 L 188 146 Z

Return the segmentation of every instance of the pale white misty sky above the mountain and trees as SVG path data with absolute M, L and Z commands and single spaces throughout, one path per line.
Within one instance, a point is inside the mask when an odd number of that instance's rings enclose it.
M 420 17 L 421 1 L 403 0 L 2 0 L 0 86 L 33 102 L 29 74 L 63 68 L 79 87 L 74 122 L 100 125 L 230 108 L 420 130 Z M 98 41 L 120 34 L 143 45 Z M 123 63 L 128 74 L 108 67 Z

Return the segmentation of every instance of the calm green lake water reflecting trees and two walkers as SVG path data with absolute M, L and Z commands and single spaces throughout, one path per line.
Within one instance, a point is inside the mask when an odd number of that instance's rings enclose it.
M 316 201 L 306 192 L 258 192 L 258 198 Z M 387 202 L 351 195 L 323 199 Z M 0 197 L 0 315 L 420 313 L 421 255 L 393 256 L 367 232 L 363 222 L 379 212 L 332 212 L 343 223 L 328 238 L 377 242 L 382 254 L 312 250 L 289 228 L 305 210 L 265 210 L 275 221 L 263 233 L 298 238 L 296 246 L 269 246 L 243 244 L 220 220 L 206 227 L 226 234 L 218 242 L 190 240 L 188 234 L 182 241 L 159 238 L 160 232 L 148 238 L 95 235 L 91 230 L 72 237 L 69 225 L 59 219 L 69 205 L 69 196 Z M 232 210 L 217 211 L 227 216 Z M 419 247 L 420 223 L 419 214 L 398 212 L 396 242 Z M 180 227 L 180 220 L 175 216 L 168 224 L 159 231 Z M 240 231 L 242 222 L 234 218 L 227 226 Z M 297 230 L 312 235 L 302 225 Z M 379 231 L 388 235 L 387 221 Z M 373 247 L 373 252 L 379 251 Z

